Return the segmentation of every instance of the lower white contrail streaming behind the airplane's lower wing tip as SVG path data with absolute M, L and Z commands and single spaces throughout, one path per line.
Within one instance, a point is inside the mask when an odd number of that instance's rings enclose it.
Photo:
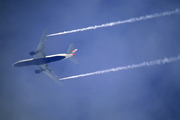
M 177 57 L 164 58 L 164 59 L 154 60 L 154 61 L 150 61 L 150 62 L 132 64 L 132 65 L 124 66 L 124 67 L 116 67 L 116 68 L 111 68 L 111 69 L 106 69 L 106 70 L 101 70 L 101 71 L 95 71 L 95 72 L 86 73 L 86 74 L 80 74 L 80 75 L 65 77 L 65 78 L 61 78 L 59 80 L 67 80 L 67 79 L 78 78 L 78 77 L 86 77 L 86 76 L 90 76 L 90 75 L 116 72 L 116 71 L 120 71 L 120 70 L 127 70 L 127 69 L 139 68 L 139 67 L 144 67 L 144 66 L 162 65 L 162 64 L 166 64 L 166 63 L 175 62 L 178 60 L 180 60 L 180 55 Z

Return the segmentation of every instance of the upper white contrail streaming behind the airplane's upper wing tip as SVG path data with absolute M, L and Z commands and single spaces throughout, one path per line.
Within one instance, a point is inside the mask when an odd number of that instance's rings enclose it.
M 167 12 L 163 12 L 163 13 L 155 13 L 155 14 L 151 14 L 151 15 L 131 18 L 131 19 L 124 20 L 124 21 L 110 22 L 110 23 L 106 23 L 106 24 L 102 24 L 102 25 L 95 25 L 95 26 L 85 27 L 85 28 L 76 29 L 76 30 L 70 30 L 70 31 L 64 31 L 64 32 L 60 32 L 60 33 L 54 33 L 54 34 L 50 34 L 50 35 L 47 35 L 47 36 L 55 36 L 55 35 L 62 35 L 62 34 L 68 34 L 68 33 L 92 30 L 92 29 L 103 28 L 103 27 L 110 27 L 110 26 L 114 26 L 114 25 L 119 25 L 119 24 L 124 24 L 124 23 L 132 23 L 132 22 L 136 22 L 136 21 L 147 20 L 147 19 L 167 16 L 167 15 L 172 15 L 172 14 L 178 14 L 178 13 L 180 13 L 180 11 L 179 11 L 179 9 L 176 9 L 174 11 L 167 11 Z

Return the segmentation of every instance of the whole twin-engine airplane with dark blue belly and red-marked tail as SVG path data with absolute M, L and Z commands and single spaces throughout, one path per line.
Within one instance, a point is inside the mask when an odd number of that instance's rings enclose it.
M 30 56 L 34 56 L 34 57 L 31 59 L 20 60 L 14 63 L 13 66 L 24 67 L 24 66 L 30 66 L 30 65 L 37 65 L 39 69 L 35 70 L 36 74 L 44 72 L 53 80 L 61 84 L 60 80 L 57 78 L 57 76 L 54 75 L 53 71 L 50 69 L 48 63 L 69 58 L 71 61 L 78 64 L 77 60 L 74 58 L 75 52 L 78 49 L 73 50 L 74 45 L 71 44 L 69 46 L 67 53 L 46 56 L 46 53 L 45 53 L 46 33 L 47 33 L 47 30 L 44 31 L 36 51 L 29 52 Z

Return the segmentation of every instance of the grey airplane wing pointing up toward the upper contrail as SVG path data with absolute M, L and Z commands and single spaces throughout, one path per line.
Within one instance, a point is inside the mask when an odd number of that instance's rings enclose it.
M 45 58 L 46 54 L 45 54 L 45 41 L 46 41 L 46 33 L 47 33 L 47 29 L 44 30 L 44 33 L 41 37 L 40 43 L 35 51 L 35 55 L 34 55 L 34 59 L 38 59 L 38 58 Z

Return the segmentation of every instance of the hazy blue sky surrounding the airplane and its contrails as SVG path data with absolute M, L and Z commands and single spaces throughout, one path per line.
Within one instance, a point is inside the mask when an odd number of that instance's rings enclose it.
M 48 34 L 180 8 L 178 0 L 6 0 L 0 2 L 1 119 L 178 120 L 180 63 L 142 67 L 63 81 L 37 66 L 14 68 L 30 58 L 44 29 Z M 49 64 L 59 77 L 173 57 L 180 51 L 178 14 L 47 37 L 46 54 L 76 58 Z

